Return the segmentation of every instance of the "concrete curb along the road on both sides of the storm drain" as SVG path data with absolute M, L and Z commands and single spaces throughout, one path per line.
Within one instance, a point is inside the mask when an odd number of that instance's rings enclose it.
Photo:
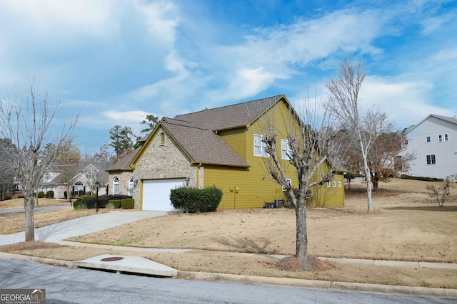
M 19 260 L 35 261 L 56 266 L 78 268 L 72 261 L 55 260 L 52 258 L 38 258 L 16 253 L 0 253 L 0 258 L 14 258 Z M 333 291 L 358 291 L 361 293 L 387 293 L 396 295 L 410 295 L 416 297 L 433 297 L 457 299 L 457 289 L 426 288 L 403 285 L 381 285 L 371 283 L 350 283 L 333 281 L 303 280 L 298 278 L 276 278 L 263 276 L 245 276 L 227 273 L 201 273 L 192 271 L 178 271 L 176 278 L 201 281 L 227 281 L 248 284 L 283 285 L 303 288 L 326 289 Z

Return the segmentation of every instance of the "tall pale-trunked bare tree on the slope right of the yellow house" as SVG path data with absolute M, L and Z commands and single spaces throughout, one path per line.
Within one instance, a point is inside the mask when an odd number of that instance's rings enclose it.
M 361 154 L 366 177 L 368 211 L 373 211 L 368 153 L 376 138 L 382 133 L 386 114 L 375 107 L 365 111 L 361 109 L 358 95 L 365 76 L 365 66 L 362 61 L 354 65 L 352 60 L 345 58 L 339 66 L 338 75 L 326 82 L 330 93 L 326 104 Z

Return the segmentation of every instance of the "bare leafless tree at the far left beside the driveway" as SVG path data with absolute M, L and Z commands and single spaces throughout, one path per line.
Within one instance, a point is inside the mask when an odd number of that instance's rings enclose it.
M 73 137 L 78 121 L 77 116 L 59 120 L 59 112 L 60 103 L 49 103 L 47 93 L 38 93 L 34 81 L 29 84 L 26 96 L 19 97 L 13 90 L 9 98 L 0 101 L 0 133 L 13 144 L 6 152 L 24 196 L 25 241 L 35 240 L 34 192 L 57 152 Z M 54 143 L 54 149 L 46 150 L 49 143 Z

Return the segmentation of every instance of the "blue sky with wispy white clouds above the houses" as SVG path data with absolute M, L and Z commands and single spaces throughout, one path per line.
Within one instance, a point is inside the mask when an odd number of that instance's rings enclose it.
M 456 1 L 2 0 L 0 20 L 0 95 L 35 78 L 81 113 L 81 152 L 146 114 L 325 98 L 345 56 L 398 129 L 457 115 Z

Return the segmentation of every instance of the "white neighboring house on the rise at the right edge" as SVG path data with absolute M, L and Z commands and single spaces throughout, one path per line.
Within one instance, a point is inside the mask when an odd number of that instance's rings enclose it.
M 446 178 L 457 174 L 457 119 L 428 115 L 406 130 L 407 152 L 414 152 L 409 175 Z

